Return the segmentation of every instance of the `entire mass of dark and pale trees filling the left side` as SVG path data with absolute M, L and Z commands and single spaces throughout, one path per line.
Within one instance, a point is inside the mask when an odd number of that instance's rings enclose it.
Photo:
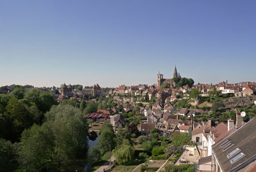
M 49 92 L 0 95 L 0 171 L 68 171 L 88 150 L 86 118 Z

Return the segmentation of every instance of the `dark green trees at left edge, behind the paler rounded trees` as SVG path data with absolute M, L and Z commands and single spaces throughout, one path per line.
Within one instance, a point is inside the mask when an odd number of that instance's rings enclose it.
M 36 123 L 42 124 L 44 113 L 57 102 L 49 92 L 16 87 L 9 95 L 0 95 L 0 137 L 12 142 L 20 140 L 20 134 Z

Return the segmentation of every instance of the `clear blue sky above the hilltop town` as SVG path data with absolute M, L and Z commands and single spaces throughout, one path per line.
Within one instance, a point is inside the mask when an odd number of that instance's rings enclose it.
M 256 1 L 0 1 L 0 85 L 256 81 Z

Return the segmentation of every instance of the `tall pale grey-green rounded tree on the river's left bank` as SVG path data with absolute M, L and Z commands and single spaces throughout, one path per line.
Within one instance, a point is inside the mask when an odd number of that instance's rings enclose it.
M 80 109 L 70 105 L 52 106 L 45 117 L 45 123 L 51 126 L 55 136 L 58 164 L 65 159 L 85 158 L 88 124 Z

